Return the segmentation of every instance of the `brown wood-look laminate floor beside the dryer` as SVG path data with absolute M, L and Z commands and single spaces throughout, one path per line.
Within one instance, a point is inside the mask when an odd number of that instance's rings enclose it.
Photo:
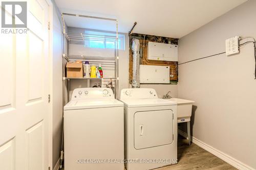
M 194 143 L 191 143 L 189 146 L 188 140 L 181 136 L 178 137 L 178 160 L 178 164 L 156 168 L 154 170 L 237 169 Z

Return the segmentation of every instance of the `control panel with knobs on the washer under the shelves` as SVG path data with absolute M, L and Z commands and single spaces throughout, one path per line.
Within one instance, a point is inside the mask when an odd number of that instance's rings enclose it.
M 76 88 L 72 93 L 71 100 L 84 99 L 115 99 L 110 88 Z

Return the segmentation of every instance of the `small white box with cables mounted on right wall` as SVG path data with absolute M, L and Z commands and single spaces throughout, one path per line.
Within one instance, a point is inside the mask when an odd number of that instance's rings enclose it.
M 226 55 L 239 53 L 239 36 L 226 39 Z

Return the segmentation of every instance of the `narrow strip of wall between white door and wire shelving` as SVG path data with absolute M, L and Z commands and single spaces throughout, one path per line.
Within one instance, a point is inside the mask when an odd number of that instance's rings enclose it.
M 62 132 L 62 23 L 59 20 L 60 12 L 53 2 L 53 94 L 52 100 L 52 126 L 53 126 L 53 167 L 60 157 L 60 144 Z

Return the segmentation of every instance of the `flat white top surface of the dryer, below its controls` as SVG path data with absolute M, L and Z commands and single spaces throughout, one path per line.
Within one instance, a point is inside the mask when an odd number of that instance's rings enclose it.
M 127 107 L 177 105 L 177 102 L 164 99 L 123 99 L 121 101 L 124 103 L 124 106 Z

